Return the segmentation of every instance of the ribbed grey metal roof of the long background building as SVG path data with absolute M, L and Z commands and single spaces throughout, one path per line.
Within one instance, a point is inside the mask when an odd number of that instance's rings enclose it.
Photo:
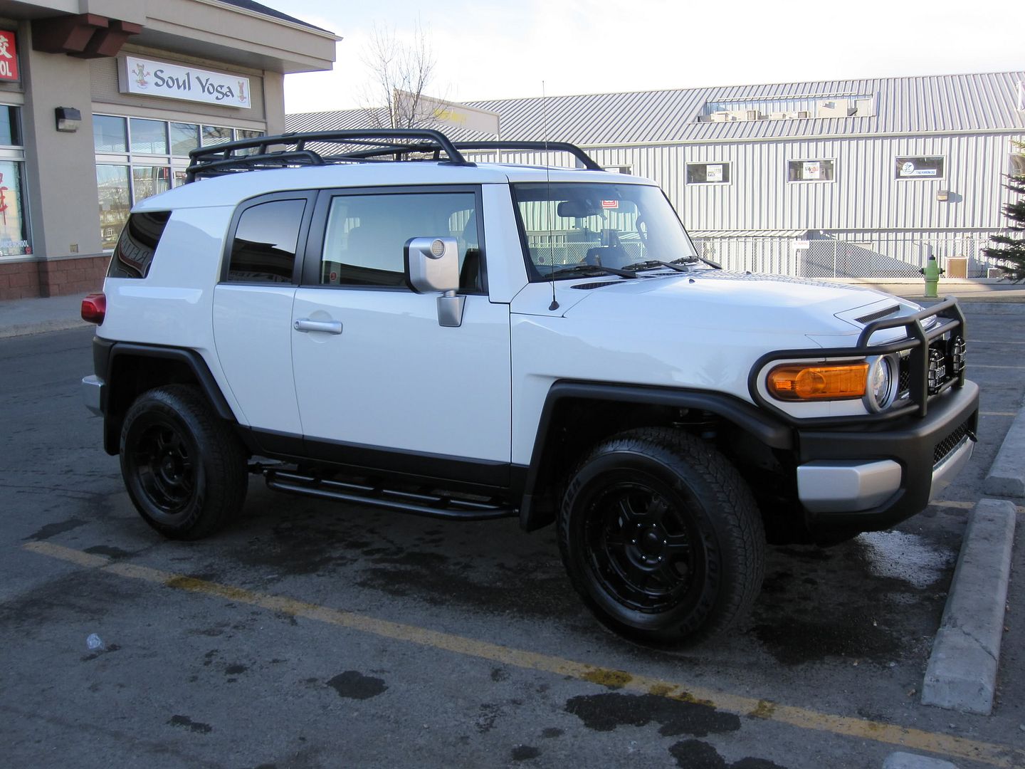
M 1023 80 L 1025 72 L 933 75 L 548 96 L 543 109 L 539 96 L 467 105 L 498 113 L 504 139 L 540 141 L 547 137 L 584 146 L 948 131 L 1015 132 L 1025 131 L 1025 112 L 1017 109 L 1018 83 Z M 875 97 L 874 114 L 723 123 L 697 120 L 709 103 L 856 94 Z M 320 130 L 365 127 L 368 119 L 364 110 L 346 110 L 288 115 L 286 123 L 289 130 Z M 438 127 L 453 139 L 481 137 L 445 125 Z

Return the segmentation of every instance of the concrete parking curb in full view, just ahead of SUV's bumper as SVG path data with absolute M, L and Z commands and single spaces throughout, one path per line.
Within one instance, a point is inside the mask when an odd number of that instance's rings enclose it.
M 926 667 L 922 704 L 987 716 L 992 711 L 1016 515 L 1013 502 L 983 499 L 969 517 Z

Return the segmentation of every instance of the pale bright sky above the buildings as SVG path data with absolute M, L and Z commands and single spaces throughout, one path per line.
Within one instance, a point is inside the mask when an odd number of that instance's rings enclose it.
M 365 106 L 374 24 L 437 58 L 426 89 L 456 102 L 1025 70 L 1006 0 L 260 0 L 343 38 L 333 72 L 285 78 L 289 113 Z

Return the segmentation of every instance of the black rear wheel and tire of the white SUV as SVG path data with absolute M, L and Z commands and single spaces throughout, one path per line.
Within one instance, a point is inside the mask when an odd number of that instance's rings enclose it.
M 125 414 L 120 453 L 132 503 L 171 539 L 213 533 L 245 501 L 245 451 L 196 388 L 169 385 L 140 395 Z

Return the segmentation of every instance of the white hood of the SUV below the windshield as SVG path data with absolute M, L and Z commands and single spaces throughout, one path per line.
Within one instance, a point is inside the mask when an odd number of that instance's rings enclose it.
M 581 283 L 603 285 L 573 287 Z M 812 337 L 855 335 L 871 320 L 916 309 L 872 288 L 722 270 L 638 280 L 591 279 L 573 286 L 561 285 L 559 291 L 584 294 L 579 299 L 567 297 L 567 318 L 613 316 L 627 322 L 644 318 L 693 328 Z

